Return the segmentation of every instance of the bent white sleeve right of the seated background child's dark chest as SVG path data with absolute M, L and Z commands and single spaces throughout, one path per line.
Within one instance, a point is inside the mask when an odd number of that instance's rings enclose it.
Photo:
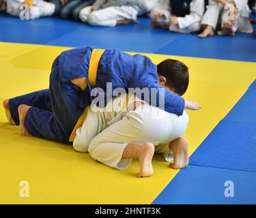
M 184 17 L 178 17 L 177 23 L 180 29 L 184 29 L 193 25 L 194 22 L 199 22 L 203 17 L 204 12 L 204 1 L 194 0 L 190 3 L 190 14 Z

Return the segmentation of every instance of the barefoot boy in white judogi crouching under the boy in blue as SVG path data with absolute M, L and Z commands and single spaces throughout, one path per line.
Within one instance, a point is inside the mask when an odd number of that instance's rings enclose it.
M 89 108 L 83 126 L 76 130 L 76 151 L 89 152 L 92 158 L 118 170 L 128 168 L 132 158 L 139 158 L 139 176 L 152 176 L 154 151 L 167 161 L 174 156 L 171 168 L 188 165 L 188 142 L 180 138 L 188 125 L 185 111 L 177 116 L 133 94 L 119 95 L 103 109 Z

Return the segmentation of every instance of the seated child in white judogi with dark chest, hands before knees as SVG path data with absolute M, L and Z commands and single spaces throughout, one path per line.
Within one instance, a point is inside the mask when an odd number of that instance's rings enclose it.
M 151 12 L 152 26 L 192 33 L 201 29 L 204 0 L 161 0 Z

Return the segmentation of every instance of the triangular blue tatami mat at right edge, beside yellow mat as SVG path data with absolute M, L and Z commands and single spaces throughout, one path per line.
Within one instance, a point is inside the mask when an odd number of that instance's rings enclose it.
M 190 157 L 190 164 L 256 172 L 256 81 Z

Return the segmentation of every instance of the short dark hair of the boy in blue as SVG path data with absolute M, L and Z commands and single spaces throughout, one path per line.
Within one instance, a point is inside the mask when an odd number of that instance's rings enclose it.
M 188 67 L 184 63 L 166 59 L 157 65 L 158 76 L 165 76 L 166 86 L 178 95 L 184 95 L 188 89 Z

